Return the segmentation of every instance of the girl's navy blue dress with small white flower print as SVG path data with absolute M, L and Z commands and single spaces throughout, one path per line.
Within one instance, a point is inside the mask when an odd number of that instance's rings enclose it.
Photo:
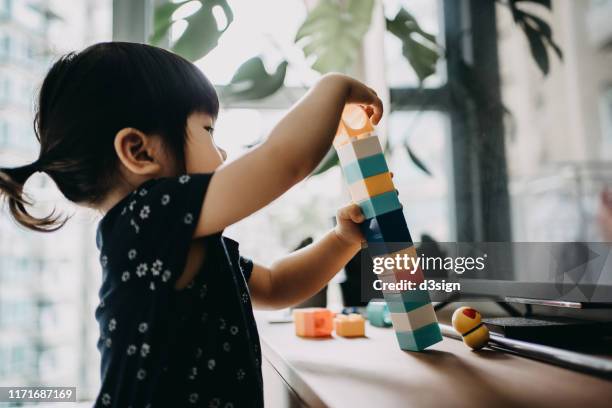
M 199 273 L 174 289 L 211 176 L 149 180 L 100 221 L 96 407 L 263 405 L 252 262 L 235 241 L 206 237 Z

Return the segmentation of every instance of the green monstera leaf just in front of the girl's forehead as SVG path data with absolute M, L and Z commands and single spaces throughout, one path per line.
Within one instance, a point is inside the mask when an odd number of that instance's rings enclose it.
M 285 81 L 287 61 L 282 61 L 268 74 L 260 57 L 246 61 L 238 68 L 220 94 L 225 101 L 262 99 L 278 91 Z

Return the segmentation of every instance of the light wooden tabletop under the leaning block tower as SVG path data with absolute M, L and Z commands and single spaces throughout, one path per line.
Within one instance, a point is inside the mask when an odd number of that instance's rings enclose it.
M 267 407 L 612 407 L 612 381 L 454 339 L 414 353 L 393 329 L 315 340 L 257 320 Z

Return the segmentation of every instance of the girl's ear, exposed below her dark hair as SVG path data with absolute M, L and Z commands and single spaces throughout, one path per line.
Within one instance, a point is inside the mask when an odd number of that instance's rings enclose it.
M 134 128 L 123 128 L 115 135 L 115 152 L 121 163 L 140 176 L 158 175 L 162 170 L 160 149 L 155 140 Z

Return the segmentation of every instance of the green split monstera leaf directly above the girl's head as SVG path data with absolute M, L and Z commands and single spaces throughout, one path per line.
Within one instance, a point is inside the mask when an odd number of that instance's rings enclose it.
M 172 14 L 184 4 L 192 0 L 178 3 L 164 3 L 155 9 L 153 34 L 149 41 L 154 45 L 160 45 L 168 35 L 172 26 L 178 21 L 172 19 Z M 232 9 L 226 0 L 200 0 L 201 7 L 184 20 L 187 28 L 183 34 L 171 45 L 172 51 L 187 58 L 197 61 L 208 54 L 218 44 L 219 38 L 234 20 Z M 217 20 L 212 13 L 214 7 L 219 6 L 223 11 L 227 24 L 222 29 L 217 26 Z

